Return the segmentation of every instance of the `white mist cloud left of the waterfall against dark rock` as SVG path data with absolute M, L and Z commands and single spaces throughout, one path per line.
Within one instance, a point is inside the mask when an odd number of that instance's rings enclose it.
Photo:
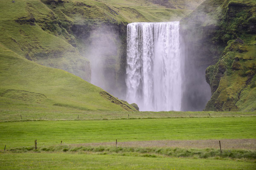
M 101 26 L 90 33 L 87 54 L 90 60 L 91 81 L 116 97 L 125 97 L 125 90 L 118 76 L 122 51 L 119 32 L 111 26 Z M 124 81 L 123 81 L 124 84 Z

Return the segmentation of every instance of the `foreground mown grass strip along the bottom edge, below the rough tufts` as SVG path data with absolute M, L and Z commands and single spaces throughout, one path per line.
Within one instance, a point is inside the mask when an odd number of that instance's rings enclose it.
M 148 158 L 117 155 L 87 155 L 70 153 L 0 154 L 2 170 L 16 169 L 112 169 L 112 170 L 254 170 L 255 163 L 233 160 Z

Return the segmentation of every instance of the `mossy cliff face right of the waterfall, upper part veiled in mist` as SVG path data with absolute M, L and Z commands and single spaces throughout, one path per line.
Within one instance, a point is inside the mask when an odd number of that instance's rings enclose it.
M 210 7 L 210 8 L 209 8 Z M 186 89 L 203 80 L 210 85 L 207 111 L 255 110 L 256 2 L 207 0 L 181 22 L 185 41 Z M 196 69 L 191 67 L 195 66 Z M 200 75 L 200 79 L 195 76 Z M 184 93 L 185 107 L 206 102 L 206 85 Z M 195 102 L 190 96 L 196 94 Z

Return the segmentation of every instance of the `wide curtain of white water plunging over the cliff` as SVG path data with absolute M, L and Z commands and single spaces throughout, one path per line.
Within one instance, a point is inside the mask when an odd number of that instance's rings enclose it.
M 140 111 L 180 111 L 179 22 L 127 26 L 127 100 Z

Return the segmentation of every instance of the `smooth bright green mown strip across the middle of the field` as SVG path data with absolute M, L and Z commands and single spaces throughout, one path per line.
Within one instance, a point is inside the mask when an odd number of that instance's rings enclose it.
M 38 147 L 89 142 L 255 139 L 255 117 L 32 121 L 0 123 L 0 146 Z

